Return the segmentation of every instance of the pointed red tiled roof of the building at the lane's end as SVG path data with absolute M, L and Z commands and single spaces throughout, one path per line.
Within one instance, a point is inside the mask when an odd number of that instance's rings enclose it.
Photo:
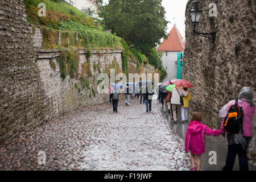
M 158 51 L 184 51 L 185 49 L 185 40 L 181 36 L 177 27 L 174 26 L 170 33 L 168 34 L 168 38 L 164 39 L 164 41 L 158 47 Z

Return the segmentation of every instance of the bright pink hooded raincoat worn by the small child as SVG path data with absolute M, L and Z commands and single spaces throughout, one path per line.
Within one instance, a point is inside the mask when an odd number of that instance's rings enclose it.
M 185 138 L 185 151 L 191 151 L 192 154 L 204 154 L 206 152 L 204 135 L 218 136 L 221 132 L 221 130 L 210 129 L 200 121 L 191 121 Z

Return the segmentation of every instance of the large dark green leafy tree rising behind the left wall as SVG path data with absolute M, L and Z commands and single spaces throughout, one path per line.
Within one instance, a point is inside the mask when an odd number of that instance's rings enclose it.
M 156 44 L 160 39 L 167 38 L 166 29 L 168 21 L 164 18 L 166 11 L 161 5 L 162 0 L 109 0 L 109 4 L 100 7 L 100 16 L 106 29 L 123 38 L 128 44 L 133 45 L 131 51 L 139 63 L 149 63 L 162 70 L 162 61 Z M 129 55 L 129 48 L 122 53 L 122 59 Z M 148 59 L 148 60 L 147 60 Z M 123 61 L 123 71 L 126 63 Z M 163 74 L 164 75 L 164 74 Z

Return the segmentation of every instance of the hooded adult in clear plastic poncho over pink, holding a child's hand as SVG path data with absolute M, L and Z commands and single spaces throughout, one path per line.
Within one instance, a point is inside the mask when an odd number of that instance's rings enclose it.
M 238 154 L 240 171 L 248 171 L 248 160 L 246 151 L 250 141 L 253 138 L 255 126 L 253 117 L 255 114 L 255 93 L 250 87 L 243 87 L 238 95 L 238 106 L 243 108 L 243 133 L 230 134 L 226 132 L 226 140 L 228 142 L 228 155 L 226 156 L 226 165 L 222 170 L 232 171 L 236 155 Z M 229 108 L 236 103 L 236 100 L 230 101 L 220 110 L 219 117 L 225 118 Z M 221 129 L 224 129 L 224 119 L 222 120 Z

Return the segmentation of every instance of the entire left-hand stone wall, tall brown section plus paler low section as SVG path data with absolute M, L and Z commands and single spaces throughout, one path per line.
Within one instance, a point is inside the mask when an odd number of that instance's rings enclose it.
M 108 102 L 108 94 L 97 93 L 99 70 L 94 63 L 101 63 L 101 72 L 113 61 L 122 67 L 120 49 L 93 50 L 90 61 L 84 49 L 77 49 L 79 73 L 63 80 L 57 63 L 60 50 L 41 49 L 42 32 L 27 23 L 22 0 L 0 1 L 0 40 L 0 142 L 62 113 Z M 80 82 L 83 63 L 90 63 L 89 88 Z

